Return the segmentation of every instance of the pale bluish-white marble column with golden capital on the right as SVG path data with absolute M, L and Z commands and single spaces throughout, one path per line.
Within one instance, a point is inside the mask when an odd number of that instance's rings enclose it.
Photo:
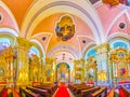
M 102 81 L 99 81 L 98 84 L 108 84 L 109 83 L 109 66 L 108 66 L 108 51 L 109 44 L 103 43 L 95 47 L 96 51 L 96 64 L 98 64 L 98 73 L 103 72 L 106 77 L 102 77 Z

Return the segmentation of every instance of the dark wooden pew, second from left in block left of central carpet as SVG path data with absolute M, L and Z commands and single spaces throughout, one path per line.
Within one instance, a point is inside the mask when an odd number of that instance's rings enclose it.
M 40 89 L 40 88 L 31 87 L 31 86 L 27 86 L 26 88 L 34 93 L 40 94 L 41 97 L 51 97 L 51 95 L 48 93 L 47 89 Z

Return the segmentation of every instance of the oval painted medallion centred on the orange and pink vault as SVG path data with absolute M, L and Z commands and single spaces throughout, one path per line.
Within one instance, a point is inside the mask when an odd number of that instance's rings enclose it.
M 70 16 L 63 16 L 56 24 L 55 32 L 57 40 L 67 41 L 75 34 L 75 25 Z

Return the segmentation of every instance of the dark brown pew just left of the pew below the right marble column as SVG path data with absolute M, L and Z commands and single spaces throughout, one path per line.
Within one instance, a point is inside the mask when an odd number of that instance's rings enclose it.
M 78 97 L 91 97 L 91 94 L 99 91 L 100 88 L 100 86 L 94 86 L 92 88 L 82 89 Z

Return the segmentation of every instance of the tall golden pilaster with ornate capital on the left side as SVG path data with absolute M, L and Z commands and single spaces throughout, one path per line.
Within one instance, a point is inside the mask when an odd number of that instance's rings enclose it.
M 16 53 L 17 53 L 17 84 L 29 84 L 29 48 L 31 43 L 21 37 L 16 38 Z

